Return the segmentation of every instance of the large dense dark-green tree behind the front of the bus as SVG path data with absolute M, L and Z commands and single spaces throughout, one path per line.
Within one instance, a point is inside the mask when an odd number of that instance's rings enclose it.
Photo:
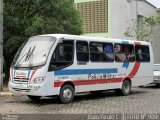
M 13 57 L 24 40 L 49 33 L 82 33 L 80 15 L 72 0 L 4 1 L 4 68 L 7 80 Z

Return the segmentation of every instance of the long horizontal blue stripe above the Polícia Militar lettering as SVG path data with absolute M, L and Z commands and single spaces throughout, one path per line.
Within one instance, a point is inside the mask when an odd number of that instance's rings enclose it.
M 117 73 L 117 68 L 57 70 L 54 72 L 54 75 L 80 75 L 80 74 L 106 74 L 106 73 Z

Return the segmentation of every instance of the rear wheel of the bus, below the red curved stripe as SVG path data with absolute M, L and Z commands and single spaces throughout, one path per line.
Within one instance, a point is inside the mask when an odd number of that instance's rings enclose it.
M 129 80 L 125 80 L 123 82 L 121 93 L 124 96 L 129 95 L 131 93 L 131 82 Z

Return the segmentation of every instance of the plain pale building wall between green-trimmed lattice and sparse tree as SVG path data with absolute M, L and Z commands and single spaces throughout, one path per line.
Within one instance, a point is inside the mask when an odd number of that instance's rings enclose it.
M 124 38 L 127 21 L 136 18 L 135 4 L 126 0 L 110 0 L 110 38 Z

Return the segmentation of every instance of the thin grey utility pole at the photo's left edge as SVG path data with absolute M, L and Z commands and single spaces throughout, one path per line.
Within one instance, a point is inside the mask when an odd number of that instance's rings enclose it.
M 0 0 L 0 91 L 3 90 L 3 0 Z

